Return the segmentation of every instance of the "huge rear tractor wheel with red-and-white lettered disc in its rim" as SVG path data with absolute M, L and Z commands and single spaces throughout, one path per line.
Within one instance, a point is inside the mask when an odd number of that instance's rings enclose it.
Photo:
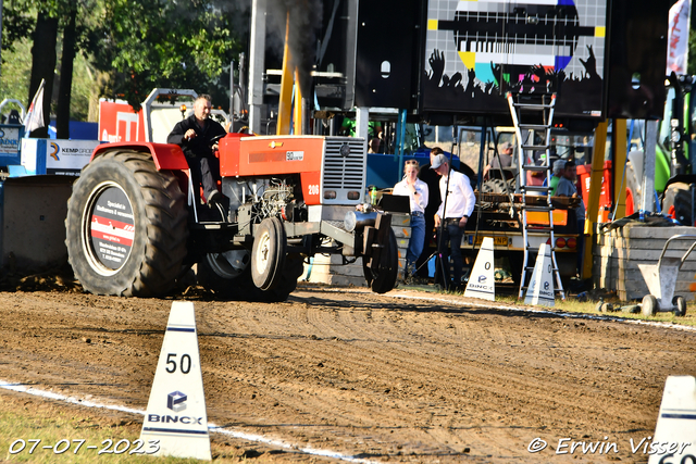
M 175 284 L 186 255 L 186 197 L 148 153 L 114 150 L 82 172 L 67 201 L 67 255 L 96 294 L 158 297 Z

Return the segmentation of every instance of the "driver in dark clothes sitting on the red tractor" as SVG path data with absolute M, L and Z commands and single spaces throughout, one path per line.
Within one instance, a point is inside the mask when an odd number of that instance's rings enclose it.
M 182 147 L 191 170 L 194 192 L 198 196 L 202 186 L 206 201 L 212 208 L 222 198 L 217 191 L 220 160 L 214 154 L 217 142 L 213 145 L 212 139 L 227 133 L 220 123 L 209 117 L 211 108 L 209 95 L 198 96 L 194 102 L 194 114 L 174 126 L 166 142 Z

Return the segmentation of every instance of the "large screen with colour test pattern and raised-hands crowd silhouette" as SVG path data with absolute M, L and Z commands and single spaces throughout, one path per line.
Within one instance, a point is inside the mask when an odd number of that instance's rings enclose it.
M 556 113 L 602 117 L 606 0 L 428 2 L 423 109 L 509 114 L 507 91 L 557 92 Z

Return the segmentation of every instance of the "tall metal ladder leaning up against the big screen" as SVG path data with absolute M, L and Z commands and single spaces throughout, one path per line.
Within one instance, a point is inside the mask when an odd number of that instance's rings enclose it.
M 551 125 L 554 121 L 554 105 L 556 104 L 556 93 L 543 95 L 522 95 L 512 92 L 507 93 L 508 104 L 510 105 L 510 114 L 518 139 L 518 154 L 520 166 L 520 176 L 518 185 L 522 193 L 522 204 L 520 206 L 520 215 L 522 216 L 522 237 L 524 242 L 524 260 L 522 262 L 522 278 L 520 279 L 519 298 L 524 297 L 527 286 L 527 276 L 531 277 L 534 269 L 534 263 L 530 266 L 530 254 L 538 252 L 538 247 L 530 246 L 530 230 L 535 233 L 544 233 L 548 235 L 548 242 L 551 249 L 551 260 L 554 263 L 554 280 L 556 281 L 554 290 L 558 292 L 562 300 L 566 299 L 563 285 L 561 284 L 561 275 L 558 271 L 556 262 L 556 253 L 554 247 L 556 240 L 554 238 L 554 208 L 551 206 L 550 181 L 550 143 L 551 143 Z M 524 123 L 522 120 L 524 118 Z M 523 135 L 525 136 L 523 138 Z M 534 162 L 534 153 L 544 151 L 540 164 Z M 543 174 L 546 177 L 545 185 L 527 185 L 527 173 Z M 538 204 L 530 201 L 527 197 L 545 196 L 546 204 Z M 532 200 L 532 199 L 531 199 Z M 527 213 L 540 212 L 548 217 L 548 223 L 543 226 L 530 226 L 527 222 Z

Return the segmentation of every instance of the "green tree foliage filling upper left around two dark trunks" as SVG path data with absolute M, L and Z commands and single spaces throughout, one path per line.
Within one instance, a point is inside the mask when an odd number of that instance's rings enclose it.
M 1 96 L 27 98 L 37 12 L 59 18 L 60 57 L 62 27 L 77 5 L 71 118 L 85 121 L 99 97 L 123 98 L 138 108 L 154 87 L 191 88 L 212 95 L 214 104 L 226 102 L 229 62 L 243 49 L 244 32 L 233 24 L 246 17 L 231 9 L 245 2 L 221 1 L 226 8 L 221 10 L 214 1 L 5 0 Z

